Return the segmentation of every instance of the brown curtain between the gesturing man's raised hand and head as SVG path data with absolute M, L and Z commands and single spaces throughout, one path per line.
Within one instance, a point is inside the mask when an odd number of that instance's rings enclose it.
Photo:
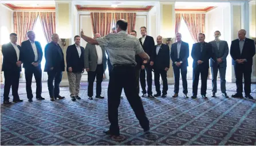
M 111 32 L 113 13 L 90 13 L 92 19 L 93 34 L 99 33 L 101 37 Z

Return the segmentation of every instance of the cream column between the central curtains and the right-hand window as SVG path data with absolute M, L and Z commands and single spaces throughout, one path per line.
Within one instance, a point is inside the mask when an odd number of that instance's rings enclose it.
M 175 42 L 175 2 L 160 2 L 156 6 L 157 14 L 157 35 L 162 35 L 165 38 L 172 38 L 172 43 Z M 171 45 L 171 44 L 170 44 Z M 171 51 L 171 47 L 170 47 Z M 168 84 L 174 84 L 174 70 L 172 69 L 172 61 L 170 60 L 170 69 L 167 72 Z

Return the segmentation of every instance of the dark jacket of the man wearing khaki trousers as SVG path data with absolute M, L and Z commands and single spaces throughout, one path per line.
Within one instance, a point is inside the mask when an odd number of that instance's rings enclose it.
M 80 46 L 81 56 L 79 58 L 76 45 L 68 46 L 66 49 L 66 71 L 72 67 L 72 73 L 81 73 L 84 69 L 84 48 Z

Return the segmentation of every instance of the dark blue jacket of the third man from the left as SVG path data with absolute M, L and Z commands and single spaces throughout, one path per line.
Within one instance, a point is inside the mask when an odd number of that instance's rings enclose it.
M 58 61 L 59 53 L 58 50 L 61 51 L 62 60 Z M 60 45 L 54 44 L 54 42 L 50 42 L 45 46 L 45 70 L 44 72 L 49 72 L 50 68 L 58 68 L 61 71 L 65 71 L 65 62 L 64 62 L 64 54 Z M 60 64 L 58 64 L 60 62 Z

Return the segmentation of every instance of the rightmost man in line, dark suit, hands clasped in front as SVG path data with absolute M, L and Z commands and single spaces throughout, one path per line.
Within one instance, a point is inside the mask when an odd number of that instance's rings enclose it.
M 250 38 L 246 38 L 246 30 L 241 29 L 237 33 L 238 39 L 231 42 L 230 55 L 233 59 L 235 68 L 235 83 L 237 84 L 237 93 L 232 97 L 243 98 L 243 78 L 245 79 L 245 97 L 253 99 L 251 93 L 251 72 L 253 65 L 253 56 L 255 55 L 255 44 Z

